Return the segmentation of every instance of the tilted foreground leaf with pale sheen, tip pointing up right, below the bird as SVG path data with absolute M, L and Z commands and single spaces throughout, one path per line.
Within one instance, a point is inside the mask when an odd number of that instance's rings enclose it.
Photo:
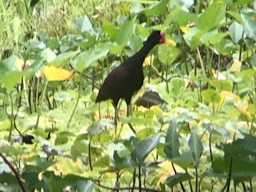
M 131 153 L 132 160 L 138 166 L 141 166 L 148 154 L 150 154 L 150 152 L 154 150 L 154 147 L 158 145 L 159 140 L 160 134 L 155 134 L 141 142 L 138 142 Z

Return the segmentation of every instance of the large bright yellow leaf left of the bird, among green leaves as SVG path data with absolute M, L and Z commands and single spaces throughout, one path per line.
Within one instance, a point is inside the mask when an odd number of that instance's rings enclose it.
M 42 70 L 42 74 L 45 76 L 47 81 L 65 81 L 72 78 L 75 70 L 64 70 L 55 66 L 45 66 Z

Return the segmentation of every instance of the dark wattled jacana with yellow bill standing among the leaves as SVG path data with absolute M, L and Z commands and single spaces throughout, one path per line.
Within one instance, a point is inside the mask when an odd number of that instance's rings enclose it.
M 120 98 L 126 100 L 127 115 L 129 114 L 130 99 L 135 91 L 142 87 L 144 74 L 142 70 L 143 62 L 146 55 L 156 46 L 158 43 L 169 43 L 175 45 L 174 42 L 170 41 L 165 37 L 165 34 L 160 30 L 154 30 L 147 38 L 146 42 L 137 53 L 130 58 L 127 58 L 120 66 L 117 66 L 107 75 L 103 82 L 96 102 L 102 102 L 107 99 L 112 99 L 114 104 L 114 125 L 117 126 L 118 118 L 118 102 Z M 116 130 L 115 130 L 116 131 Z M 133 130 L 134 131 L 134 130 Z

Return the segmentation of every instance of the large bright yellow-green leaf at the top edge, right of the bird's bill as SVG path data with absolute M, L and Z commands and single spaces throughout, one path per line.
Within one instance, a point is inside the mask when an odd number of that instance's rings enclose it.
M 198 28 L 204 31 L 218 28 L 222 19 L 225 19 L 225 11 L 226 5 L 223 1 L 212 2 L 200 15 L 197 22 Z

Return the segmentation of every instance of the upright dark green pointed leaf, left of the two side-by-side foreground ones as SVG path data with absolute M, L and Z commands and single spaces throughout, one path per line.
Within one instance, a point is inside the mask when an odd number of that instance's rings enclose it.
M 178 142 L 178 134 L 177 134 L 178 124 L 174 118 L 170 120 L 169 128 L 166 132 L 166 143 L 164 146 L 164 151 L 167 158 L 175 158 L 179 154 L 179 142 Z

